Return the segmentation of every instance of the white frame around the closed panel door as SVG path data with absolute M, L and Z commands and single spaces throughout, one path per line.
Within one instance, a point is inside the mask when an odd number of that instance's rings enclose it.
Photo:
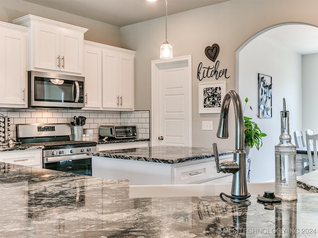
M 159 66 L 164 64 L 175 64 L 180 62 L 188 63 L 188 94 L 191 104 L 189 105 L 189 146 L 192 146 L 192 56 L 175 57 L 171 60 L 152 60 L 151 61 L 151 83 L 152 83 L 152 110 L 151 110 L 151 145 L 159 145 Z

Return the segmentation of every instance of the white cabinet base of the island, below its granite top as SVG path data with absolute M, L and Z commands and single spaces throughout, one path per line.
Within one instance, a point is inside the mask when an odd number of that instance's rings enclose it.
M 232 159 L 233 155 L 220 156 L 220 161 Z M 232 174 L 217 173 L 214 158 L 165 164 L 94 156 L 92 176 L 105 179 L 130 179 L 131 185 L 232 181 Z

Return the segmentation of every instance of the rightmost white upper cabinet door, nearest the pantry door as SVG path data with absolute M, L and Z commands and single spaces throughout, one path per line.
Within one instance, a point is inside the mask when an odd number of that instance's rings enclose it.
M 134 56 L 119 54 L 120 102 L 122 110 L 134 111 Z

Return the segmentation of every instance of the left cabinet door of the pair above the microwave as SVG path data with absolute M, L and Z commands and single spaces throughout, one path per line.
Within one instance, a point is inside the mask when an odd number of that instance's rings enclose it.
M 60 70 L 60 28 L 36 24 L 33 44 L 35 68 Z

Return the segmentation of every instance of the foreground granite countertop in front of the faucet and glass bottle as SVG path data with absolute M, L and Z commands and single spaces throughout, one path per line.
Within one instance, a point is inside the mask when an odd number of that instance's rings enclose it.
M 297 201 L 266 209 L 257 195 L 249 205 L 219 196 L 129 198 L 128 180 L 6 163 L 0 163 L 0 190 L 1 238 L 312 238 L 318 233 L 318 193 L 298 194 Z

